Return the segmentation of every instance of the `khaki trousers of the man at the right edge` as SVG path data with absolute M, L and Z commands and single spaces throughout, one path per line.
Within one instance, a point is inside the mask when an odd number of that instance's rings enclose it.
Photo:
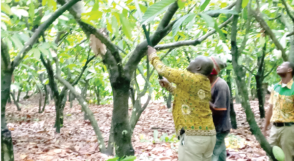
M 276 127 L 271 126 L 269 143 L 279 146 L 285 153 L 285 161 L 294 161 L 294 125 Z

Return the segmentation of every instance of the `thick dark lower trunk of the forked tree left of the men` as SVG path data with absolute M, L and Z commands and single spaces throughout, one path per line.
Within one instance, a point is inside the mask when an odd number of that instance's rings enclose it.
M 113 92 L 112 122 L 116 155 L 120 158 L 124 155 L 132 156 L 135 151 L 131 141 L 132 132 L 128 116 L 130 80 L 117 78 L 115 82 L 111 83 L 111 87 Z

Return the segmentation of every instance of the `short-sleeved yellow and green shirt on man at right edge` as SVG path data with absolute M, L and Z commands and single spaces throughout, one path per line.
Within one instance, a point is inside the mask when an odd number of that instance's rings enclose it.
M 294 122 L 294 83 L 290 80 L 285 87 L 282 81 L 271 91 L 269 103 L 273 105 L 270 122 Z

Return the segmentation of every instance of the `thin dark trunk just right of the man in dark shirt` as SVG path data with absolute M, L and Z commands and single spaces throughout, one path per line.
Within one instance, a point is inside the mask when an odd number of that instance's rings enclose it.
M 233 103 L 233 94 L 232 94 L 232 84 L 231 84 L 231 70 L 226 70 L 226 75 L 227 75 L 227 84 L 230 89 L 230 95 L 231 95 L 231 100 L 230 100 L 230 119 L 231 119 L 231 125 L 233 129 L 237 129 L 237 121 L 236 121 L 236 113 L 234 109 L 234 103 Z

